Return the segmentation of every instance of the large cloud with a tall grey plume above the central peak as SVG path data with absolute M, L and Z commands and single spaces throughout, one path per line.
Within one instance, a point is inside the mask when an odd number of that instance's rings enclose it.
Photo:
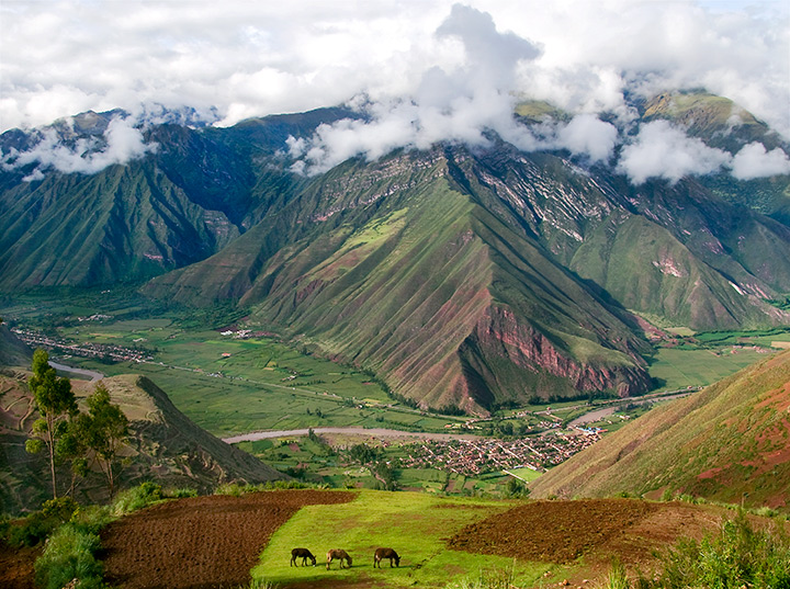
M 452 8 L 436 36 L 458 44 L 464 61 L 426 70 L 406 99 L 364 104 L 364 120 L 321 125 L 309 141 L 292 140 L 291 155 L 303 159 L 294 170 L 318 173 L 352 156 L 373 160 L 397 147 L 427 149 L 438 141 L 487 145 L 488 129 L 532 147 L 533 137 L 514 120 L 512 88 L 519 63 L 534 59 L 540 49 L 498 32 L 490 14 L 461 4 Z

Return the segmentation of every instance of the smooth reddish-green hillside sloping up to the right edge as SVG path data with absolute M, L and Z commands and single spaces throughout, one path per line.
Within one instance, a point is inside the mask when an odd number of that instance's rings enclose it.
M 689 494 L 790 507 L 790 352 L 658 407 L 531 484 L 535 497 Z

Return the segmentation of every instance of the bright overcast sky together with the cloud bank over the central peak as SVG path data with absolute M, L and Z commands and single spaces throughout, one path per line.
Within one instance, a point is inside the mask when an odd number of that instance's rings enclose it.
M 628 120 L 624 90 L 706 88 L 790 139 L 788 0 L 2 0 L 0 18 L 2 131 L 157 104 L 230 125 L 353 101 L 377 126 L 293 143 L 305 167 L 483 128 L 598 160 L 616 137 L 591 115 Z M 524 98 L 582 116 L 524 134 L 509 111 Z

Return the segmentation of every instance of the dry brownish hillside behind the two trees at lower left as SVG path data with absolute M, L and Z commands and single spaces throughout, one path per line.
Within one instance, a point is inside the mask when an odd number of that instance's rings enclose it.
M 149 380 L 128 375 L 104 378 L 103 383 L 112 401 L 121 405 L 129 419 L 129 441 L 122 452 L 129 464 L 122 471 L 121 487 L 154 480 L 205 492 L 221 483 L 283 478 L 257 458 L 200 429 Z M 72 381 L 72 385 L 78 398 L 93 390 L 84 381 Z M 34 509 L 50 497 L 44 457 L 24 450 L 26 432 L 36 417 L 23 376 L 0 375 L 1 511 Z M 60 479 L 68 478 L 64 469 Z M 98 473 L 80 484 L 77 498 L 83 502 L 106 500 L 104 482 Z

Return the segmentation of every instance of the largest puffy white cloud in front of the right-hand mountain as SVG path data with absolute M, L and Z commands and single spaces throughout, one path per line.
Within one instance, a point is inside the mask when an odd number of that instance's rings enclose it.
M 651 178 L 677 182 L 685 175 L 708 174 L 726 166 L 732 156 L 691 138 L 666 121 L 647 123 L 635 140 L 623 147 L 618 171 L 634 184 Z

